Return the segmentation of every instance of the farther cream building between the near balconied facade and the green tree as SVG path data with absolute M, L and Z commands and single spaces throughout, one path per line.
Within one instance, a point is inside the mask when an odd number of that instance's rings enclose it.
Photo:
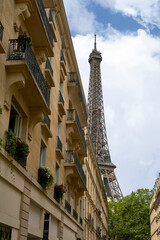
M 97 167 L 91 136 L 85 128 L 87 143 L 87 157 L 85 159 L 85 173 L 87 191 L 85 191 L 85 239 L 108 239 L 107 233 L 107 198 L 101 175 Z

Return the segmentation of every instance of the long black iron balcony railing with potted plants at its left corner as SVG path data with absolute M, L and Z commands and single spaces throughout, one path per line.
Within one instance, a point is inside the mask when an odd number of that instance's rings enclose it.
M 8 60 L 26 60 L 27 65 L 32 72 L 39 89 L 49 107 L 50 105 L 50 90 L 43 77 L 41 69 L 38 65 L 36 57 L 32 51 L 29 42 L 26 39 L 10 39 L 9 40 L 9 55 Z

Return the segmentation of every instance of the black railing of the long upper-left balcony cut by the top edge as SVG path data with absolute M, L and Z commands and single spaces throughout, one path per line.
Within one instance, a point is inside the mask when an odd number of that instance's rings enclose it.
M 44 23 L 44 26 L 45 26 L 45 29 L 46 29 L 46 32 L 47 32 L 47 35 L 49 38 L 50 44 L 53 47 L 53 35 L 52 35 L 51 28 L 49 26 L 49 21 L 47 18 L 47 14 L 46 14 L 43 2 L 42 2 L 42 0 L 36 0 L 36 2 L 37 2 L 39 12 L 41 14 L 41 17 L 42 17 L 42 20 L 43 20 L 43 23 Z

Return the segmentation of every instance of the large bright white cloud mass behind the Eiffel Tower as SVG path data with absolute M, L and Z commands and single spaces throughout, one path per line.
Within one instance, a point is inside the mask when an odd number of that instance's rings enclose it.
M 124 195 L 152 188 L 160 159 L 160 39 L 144 30 L 122 34 L 111 27 L 97 36 L 107 135 Z M 73 38 L 81 78 L 88 92 L 88 57 L 93 36 Z

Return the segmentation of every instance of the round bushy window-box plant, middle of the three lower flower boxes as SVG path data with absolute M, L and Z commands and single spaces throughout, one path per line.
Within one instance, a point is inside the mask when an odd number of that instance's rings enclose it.
M 38 169 L 38 181 L 44 190 L 51 187 L 53 183 L 53 175 L 47 167 L 40 167 Z

